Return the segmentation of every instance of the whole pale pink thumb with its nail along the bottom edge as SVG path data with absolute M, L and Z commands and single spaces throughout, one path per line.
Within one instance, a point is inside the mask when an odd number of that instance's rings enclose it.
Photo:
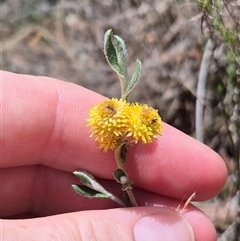
M 13 228 L 14 227 L 14 228 Z M 178 240 L 193 229 L 168 208 L 138 207 L 83 211 L 25 220 L 2 220 L 3 240 Z

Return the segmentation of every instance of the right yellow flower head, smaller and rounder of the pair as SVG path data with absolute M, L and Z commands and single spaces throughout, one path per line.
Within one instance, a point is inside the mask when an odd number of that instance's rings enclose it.
M 157 110 L 148 105 L 131 104 L 125 110 L 127 117 L 127 137 L 132 137 L 137 143 L 151 143 L 156 135 L 162 134 L 162 120 Z

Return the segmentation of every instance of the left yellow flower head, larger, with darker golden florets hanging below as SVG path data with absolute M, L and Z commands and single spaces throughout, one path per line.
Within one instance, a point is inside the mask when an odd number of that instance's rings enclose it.
M 88 125 L 91 135 L 95 136 L 99 148 L 107 151 L 118 145 L 118 140 L 125 133 L 126 117 L 124 110 L 129 104 L 122 99 L 112 98 L 95 105 L 89 111 Z

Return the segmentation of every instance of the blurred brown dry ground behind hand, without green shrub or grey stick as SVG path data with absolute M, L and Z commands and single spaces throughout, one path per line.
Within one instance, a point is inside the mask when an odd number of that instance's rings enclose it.
M 141 80 L 130 101 L 153 106 L 165 122 L 195 135 L 196 86 L 207 41 L 196 2 L 5 0 L 1 8 L 2 69 L 50 76 L 119 97 L 117 76 L 103 54 L 104 33 L 112 28 L 128 47 L 129 76 L 136 58 L 143 64 Z M 230 168 L 226 130 L 215 108 L 219 96 L 213 86 L 220 81 L 219 71 L 212 63 L 205 143 L 220 153 Z M 236 216 L 236 206 L 230 218 L 229 208 L 220 218 L 216 215 L 228 201 L 229 196 L 217 197 L 203 207 L 220 233 Z

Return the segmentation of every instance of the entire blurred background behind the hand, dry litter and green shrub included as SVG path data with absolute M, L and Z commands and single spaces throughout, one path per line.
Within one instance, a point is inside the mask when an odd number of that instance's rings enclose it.
M 120 97 L 120 88 L 104 58 L 103 36 L 109 28 L 121 36 L 129 77 L 136 58 L 143 64 L 130 101 L 158 109 L 188 135 L 200 129 L 201 141 L 223 157 L 226 186 L 196 205 L 214 222 L 218 240 L 239 240 L 239 1 L 3 0 L 0 7 L 1 69 L 73 82 L 108 97 Z M 206 84 L 199 87 L 201 81 Z

